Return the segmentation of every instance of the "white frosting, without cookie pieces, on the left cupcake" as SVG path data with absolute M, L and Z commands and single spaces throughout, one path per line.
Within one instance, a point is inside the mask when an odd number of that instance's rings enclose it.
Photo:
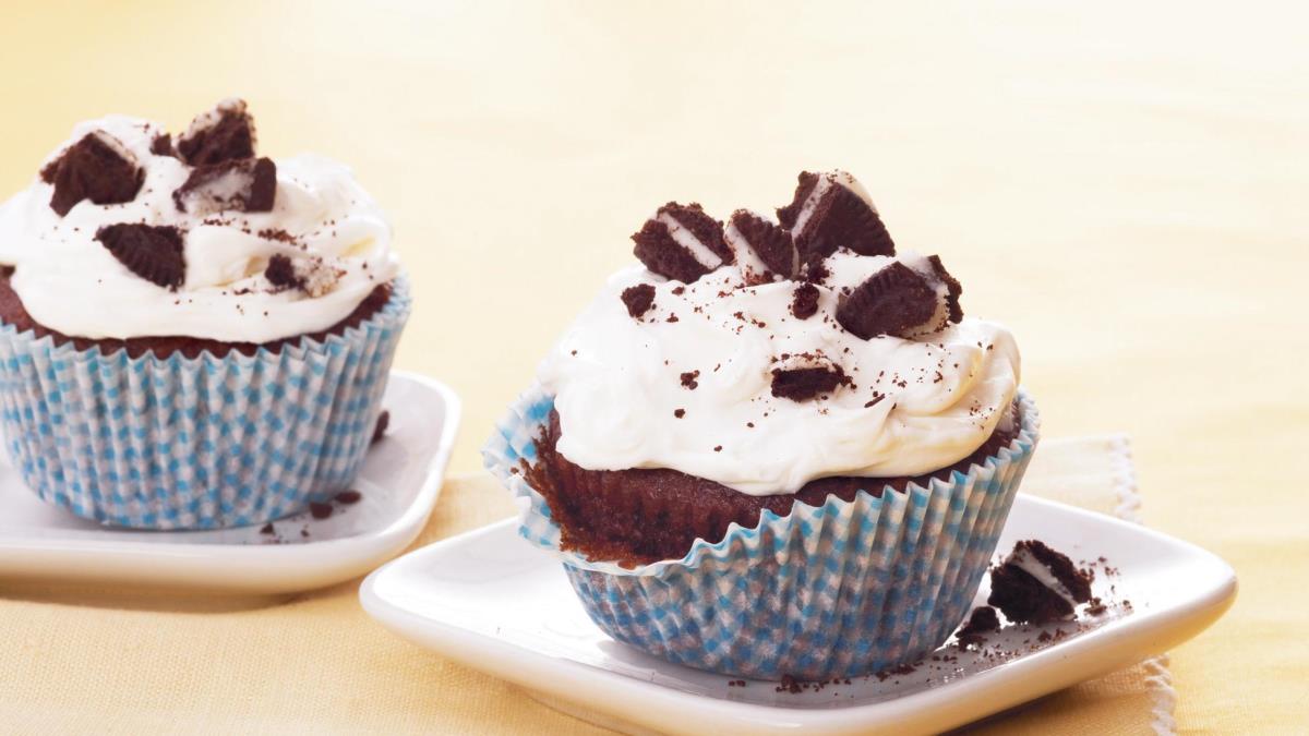
M 225 342 L 270 342 L 340 322 L 399 265 L 382 211 L 346 166 L 317 156 L 279 160 L 271 212 L 181 212 L 173 191 L 191 169 L 154 156 L 162 127 L 109 117 L 73 128 L 67 145 L 93 131 L 118 139 L 145 169 L 126 204 L 80 202 L 67 216 L 50 208 L 54 187 L 37 179 L 0 206 L 0 263 L 14 266 L 14 292 L 37 322 L 93 339 L 183 335 Z M 96 232 L 115 223 L 186 230 L 186 280 L 173 291 L 128 271 Z M 283 230 L 295 242 L 259 237 Z M 263 276 L 283 254 L 310 276 L 309 296 L 275 289 Z

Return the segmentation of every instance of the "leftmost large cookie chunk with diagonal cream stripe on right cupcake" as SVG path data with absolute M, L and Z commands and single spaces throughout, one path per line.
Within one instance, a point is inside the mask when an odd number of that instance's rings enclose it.
M 632 253 L 651 271 L 675 282 L 694 283 L 734 261 L 723 241 L 723 223 L 699 204 L 669 202 L 632 236 Z

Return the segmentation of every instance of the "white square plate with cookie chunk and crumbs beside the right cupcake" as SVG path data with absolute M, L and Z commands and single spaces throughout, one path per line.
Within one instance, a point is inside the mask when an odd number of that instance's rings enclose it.
M 369 575 L 360 597 L 397 634 L 554 707 L 614 728 L 672 733 L 941 731 L 1161 653 L 1236 597 L 1232 568 L 1194 545 L 1020 494 L 1000 550 L 1024 538 L 1075 562 L 1107 558 L 1096 566 L 1094 592 L 1109 610 L 1063 626 L 1007 626 L 982 650 L 948 643 L 910 673 L 800 693 L 775 682 L 729 685 L 726 676 L 611 640 L 586 617 L 560 564 L 518 538 L 516 520 L 407 554 Z M 1041 642 L 1043 633 L 1052 636 Z

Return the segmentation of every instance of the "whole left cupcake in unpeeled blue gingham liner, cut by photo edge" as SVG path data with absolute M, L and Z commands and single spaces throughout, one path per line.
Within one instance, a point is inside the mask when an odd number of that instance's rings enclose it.
M 353 479 L 408 285 L 347 168 L 255 143 L 237 100 L 85 122 L 0 207 L 0 415 L 47 502 L 221 528 Z

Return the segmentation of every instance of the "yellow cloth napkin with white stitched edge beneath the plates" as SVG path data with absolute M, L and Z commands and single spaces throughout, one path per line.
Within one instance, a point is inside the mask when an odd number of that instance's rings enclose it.
M 1024 490 L 1089 508 L 1130 495 L 1121 439 L 1043 441 Z M 514 513 L 486 473 L 450 478 L 415 547 Z M 0 581 L 0 724 L 13 733 L 606 732 L 401 640 L 363 612 L 353 580 L 292 597 L 178 600 Z M 1149 728 L 1156 695 L 1134 668 L 979 728 Z M 1051 731 L 1054 729 L 1054 731 Z

